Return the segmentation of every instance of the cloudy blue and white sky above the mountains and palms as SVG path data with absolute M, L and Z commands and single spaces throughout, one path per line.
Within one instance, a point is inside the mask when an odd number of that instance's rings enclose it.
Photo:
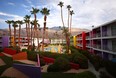
M 64 2 L 63 18 L 67 26 L 68 10 L 67 5 L 71 5 L 72 27 L 92 29 L 116 19 L 116 0 L 0 0 L 0 29 L 8 28 L 6 20 L 23 20 L 25 15 L 31 15 L 32 7 L 50 10 L 47 16 L 47 27 L 62 26 L 58 3 Z M 43 15 L 37 14 L 40 27 L 43 27 Z M 31 15 L 31 20 L 34 17 Z M 23 28 L 25 25 L 22 26 Z

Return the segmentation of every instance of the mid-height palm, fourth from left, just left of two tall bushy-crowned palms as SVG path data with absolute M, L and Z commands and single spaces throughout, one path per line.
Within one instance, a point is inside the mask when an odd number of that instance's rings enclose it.
M 27 40 L 28 40 L 28 47 L 30 42 L 30 15 L 25 15 L 24 22 L 26 23 L 26 33 L 27 33 Z

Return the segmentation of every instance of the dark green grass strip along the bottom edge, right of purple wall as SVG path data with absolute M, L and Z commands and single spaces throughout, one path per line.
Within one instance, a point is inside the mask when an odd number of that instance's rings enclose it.
M 96 78 L 96 76 L 90 72 L 85 71 L 82 73 L 42 73 L 42 78 Z

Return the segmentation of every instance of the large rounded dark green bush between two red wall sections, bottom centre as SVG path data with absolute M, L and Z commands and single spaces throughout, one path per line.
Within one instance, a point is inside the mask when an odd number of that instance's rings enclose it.
M 65 58 L 59 57 L 55 60 L 53 65 L 47 69 L 48 72 L 63 72 L 70 69 L 69 61 Z

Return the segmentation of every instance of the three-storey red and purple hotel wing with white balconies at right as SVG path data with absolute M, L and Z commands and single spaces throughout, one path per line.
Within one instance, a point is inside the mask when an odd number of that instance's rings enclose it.
M 94 27 L 76 36 L 76 47 L 95 53 L 104 59 L 116 58 L 116 20 Z

